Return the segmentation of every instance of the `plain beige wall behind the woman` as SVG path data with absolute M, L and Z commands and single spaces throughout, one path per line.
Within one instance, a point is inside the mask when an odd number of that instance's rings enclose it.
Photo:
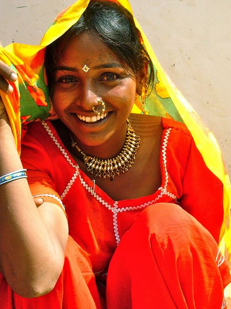
M 2 44 L 39 44 L 53 18 L 72 2 L 0 0 Z M 160 63 L 215 134 L 231 175 L 231 1 L 131 4 Z

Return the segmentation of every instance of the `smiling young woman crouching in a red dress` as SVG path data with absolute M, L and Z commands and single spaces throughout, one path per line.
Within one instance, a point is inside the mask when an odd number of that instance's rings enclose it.
M 225 308 L 223 185 L 184 124 L 131 114 L 158 75 L 132 15 L 88 2 L 46 47 L 59 119 L 24 127 L 22 163 L 2 108 L 1 308 Z

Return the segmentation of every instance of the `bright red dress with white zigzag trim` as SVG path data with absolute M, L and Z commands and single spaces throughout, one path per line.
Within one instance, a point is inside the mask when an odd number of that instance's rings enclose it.
M 5 289 L 8 297 L 0 308 L 11 309 L 12 299 L 17 309 L 225 306 L 230 272 L 216 243 L 223 220 L 222 183 L 206 167 L 184 125 L 165 118 L 162 124 L 160 188 L 150 196 L 119 201 L 97 185 L 93 192 L 92 180 L 51 122 L 29 126 L 21 159 L 32 194 L 65 206 L 70 237 L 54 290 L 25 299 L 12 294 L 2 278 L 0 293 Z

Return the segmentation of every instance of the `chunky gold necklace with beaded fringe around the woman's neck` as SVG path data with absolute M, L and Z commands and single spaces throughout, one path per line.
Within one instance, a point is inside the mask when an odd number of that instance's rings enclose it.
M 122 150 L 118 155 L 110 159 L 100 159 L 95 156 L 86 155 L 78 147 L 77 142 L 74 141 L 72 134 L 71 146 L 77 149 L 77 151 L 83 156 L 83 162 L 87 166 L 87 171 L 94 175 L 94 177 L 113 178 L 120 173 L 125 173 L 130 167 L 132 167 L 137 149 L 140 145 L 140 137 L 135 135 L 135 131 L 131 127 L 129 119 L 127 119 L 128 129 L 126 133 L 125 143 Z

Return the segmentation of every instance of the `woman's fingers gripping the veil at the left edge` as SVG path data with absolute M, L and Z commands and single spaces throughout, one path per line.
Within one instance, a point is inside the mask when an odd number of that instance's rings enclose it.
M 0 42 L 0 46 L 1 42 Z M 5 93 L 11 93 L 13 87 L 8 82 L 15 82 L 18 76 L 15 71 L 10 67 L 0 61 L 0 89 Z

